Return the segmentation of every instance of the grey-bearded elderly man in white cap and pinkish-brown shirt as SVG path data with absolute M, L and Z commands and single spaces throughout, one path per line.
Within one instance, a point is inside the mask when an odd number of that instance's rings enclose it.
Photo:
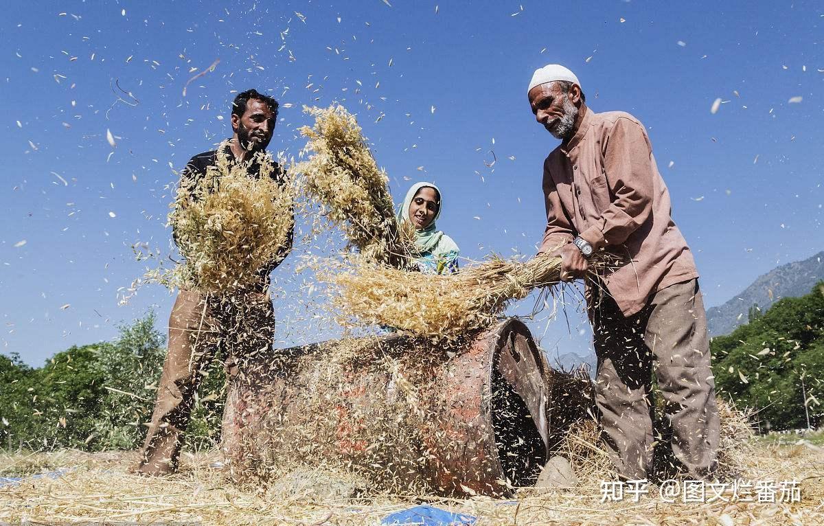
M 709 477 L 719 416 L 704 304 L 647 132 L 628 113 L 590 110 L 578 77 L 557 64 L 536 70 L 527 94 L 536 120 L 561 140 L 544 162 L 539 254 L 561 257 L 564 281 L 586 277 L 599 251 L 619 261 L 588 279 L 596 403 L 616 470 L 648 477 L 654 363 L 672 452 L 690 477 Z

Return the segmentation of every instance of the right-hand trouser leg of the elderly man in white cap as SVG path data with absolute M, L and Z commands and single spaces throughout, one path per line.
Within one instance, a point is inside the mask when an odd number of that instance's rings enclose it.
M 644 341 L 655 356 L 664 414 L 672 426 L 672 453 L 699 480 L 715 471 L 720 424 L 698 280 L 658 291 L 650 307 Z

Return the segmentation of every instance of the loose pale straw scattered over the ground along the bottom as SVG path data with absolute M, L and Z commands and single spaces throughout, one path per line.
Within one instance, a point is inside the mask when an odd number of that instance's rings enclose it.
M 583 438 L 583 437 L 582 437 Z M 71 452 L 69 452 L 71 453 Z M 73 524 L 123 521 L 135 524 L 380 524 L 386 515 L 414 505 L 429 504 L 478 518 L 477 526 L 497 524 L 824 524 L 824 453 L 800 445 L 751 444 L 742 477 L 801 482 L 801 502 L 749 502 L 725 499 L 705 504 L 663 502 L 650 488 L 639 502 L 625 495 L 620 502 L 602 502 L 600 480 L 582 480 L 573 491 L 522 491 L 516 498 L 440 498 L 433 495 L 352 495 L 341 497 L 338 486 L 358 480 L 318 470 L 284 474 L 283 483 L 269 487 L 236 486 L 222 468 L 214 467 L 218 452 L 184 453 L 176 477 L 129 475 L 133 453 L 45 453 L 0 455 L 0 464 L 38 463 L 44 469 L 68 467 L 56 479 L 27 479 L 0 487 L 0 521 L 12 524 Z M 35 458 L 38 457 L 38 458 Z M 59 458 L 55 458 L 59 457 Z M 576 464 L 574 463 L 574 466 Z M 325 486 L 325 487 L 324 487 Z M 320 490 L 320 491 L 319 491 Z M 325 495 L 324 495 L 325 494 Z

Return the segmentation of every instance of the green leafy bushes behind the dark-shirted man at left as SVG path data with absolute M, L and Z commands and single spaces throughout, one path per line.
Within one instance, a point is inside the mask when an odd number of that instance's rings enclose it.
M 73 346 L 33 369 L 18 355 L 0 355 L 0 447 L 135 449 L 152 417 L 166 356 L 153 313 L 121 326 L 112 342 Z M 208 368 L 186 443 L 220 439 L 225 375 Z

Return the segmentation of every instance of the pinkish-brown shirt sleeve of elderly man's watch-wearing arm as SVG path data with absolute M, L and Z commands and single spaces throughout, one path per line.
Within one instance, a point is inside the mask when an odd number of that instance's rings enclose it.
M 639 123 L 616 120 L 603 145 L 603 167 L 611 204 L 581 232 L 596 249 L 625 242 L 653 212 L 652 148 Z

